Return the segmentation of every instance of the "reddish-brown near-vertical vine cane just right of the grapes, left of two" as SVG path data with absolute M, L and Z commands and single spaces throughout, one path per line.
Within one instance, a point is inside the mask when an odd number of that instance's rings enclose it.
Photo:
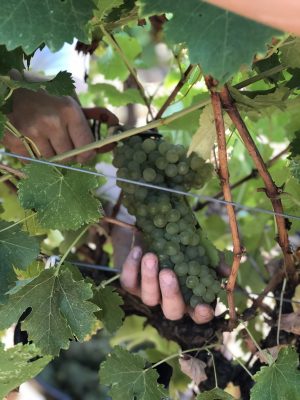
M 210 77 L 205 78 L 206 85 L 211 93 L 211 103 L 214 113 L 214 120 L 216 125 L 216 133 L 217 133 L 217 143 L 218 143 L 218 159 L 219 159 L 219 177 L 221 181 L 221 186 L 223 189 L 224 199 L 226 201 L 232 202 L 232 195 L 230 190 L 229 183 L 229 171 L 228 171 L 228 162 L 227 162 L 227 150 L 226 150 L 226 135 L 225 135 L 225 124 L 222 114 L 222 105 L 219 93 L 215 91 L 216 84 L 214 80 Z M 229 225 L 232 236 L 233 243 L 233 263 L 230 271 L 230 275 L 228 278 L 228 282 L 226 285 L 227 291 L 227 300 L 228 300 L 228 308 L 229 308 L 229 328 L 233 328 L 236 324 L 236 311 L 234 304 L 234 286 L 241 262 L 241 258 L 244 252 L 244 249 L 241 246 L 240 234 L 238 230 L 235 209 L 232 204 L 227 204 L 227 214 L 229 218 Z

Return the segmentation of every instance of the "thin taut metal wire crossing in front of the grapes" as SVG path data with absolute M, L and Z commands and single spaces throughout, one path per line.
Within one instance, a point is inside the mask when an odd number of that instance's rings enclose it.
M 4 150 L 0 151 L 0 155 L 1 154 L 5 155 L 5 156 L 8 156 L 8 157 L 12 157 L 12 158 L 18 158 L 18 159 L 21 159 L 21 160 L 34 162 L 34 163 L 37 163 L 37 164 L 49 165 L 49 166 L 52 166 L 52 167 L 58 167 L 58 168 L 66 169 L 66 170 L 69 170 L 69 171 L 81 172 L 81 173 L 84 173 L 84 174 L 99 176 L 99 177 L 106 178 L 106 179 L 113 179 L 113 180 L 116 180 L 116 181 L 119 181 L 119 182 L 131 183 L 133 185 L 143 186 L 143 187 L 146 187 L 148 189 L 155 189 L 155 190 L 160 190 L 160 191 L 164 191 L 164 192 L 168 192 L 168 193 L 178 194 L 178 195 L 181 195 L 181 196 L 193 197 L 193 198 L 195 198 L 197 200 L 206 200 L 206 201 L 209 201 L 209 202 L 218 203 L 218 204 L 222 204 L 222 205 L 232 205 L 233 207 L 236 207 L 236 208 L 241 209 L 241 210 L 249 211 L 249 212 L 257 212 L 257 213 L 268 214 L 268 215 L 272 215 L 272 216 L 277 215 L 279 217 L 295 219 L 295 220 L 300 221 L 300 216 L 298 216 L 298 215 L 287 214 L 287 213 L 279 213 L 279 212 L 276 212 L 276 211 L 267 210 L 265 208 L 246 206 L 244 204 L 236 203 L 234 201 L 226 201 L 226 200 L 222 200 L 222 199 L 216 199 L 214 197 L 206 196 L 204 194 L 184 192 L 182 190 L 177 190 L 177 189 L 171 189 L 171 188 L 168 188 L 168 187 L 152 185 L 151 183 L 139 182 L 139 181 L 135 181 L 135 180 L 132 180 L 132 179 L 126 179 L 126 178 L 118 178 L 116 176 L 109 175 L 109 174 L 103 174 L 101 172 L 89 171 L 89 170 L 86 170 L 86 169 L 77 168 L 77 167 L 71 167 L 71 166 L 68 166 L 68 165 L 59 164 L 59 163 L 55 163 L 55 162 L 50 162 L 50 161 L 46 161 L 46 160 L 39 160 L 39 159 L 36 159 L 36 158 L 21 156 L 19 154 L 10 153 L 10 152 L 4 151 Z

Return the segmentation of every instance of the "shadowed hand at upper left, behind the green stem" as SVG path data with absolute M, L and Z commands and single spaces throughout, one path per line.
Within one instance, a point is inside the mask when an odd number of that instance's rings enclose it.
M 118 123 L 110 111 L 99 109 L 103 121 Z M 64 153 L 94 141 L 91 129 L 80 105 L 68 96 L 51 96 L 44 91 L 19 89 L 14 93 L 13 111 L 8 116 L 11 123 L 30 138 L 45 158 Z M 3 144 L 12 152 L 28 156 L 20 139 L 6 133 Z M 75 160 L 83 163 L 96 154 L 94 150 L 79 154 Z M 71 161 L 68 159 L 68 161 Z

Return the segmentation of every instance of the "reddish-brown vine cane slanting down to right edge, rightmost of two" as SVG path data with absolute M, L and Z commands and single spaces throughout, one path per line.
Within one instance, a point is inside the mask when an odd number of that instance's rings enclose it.
M 256 169 L 262 178 L 265 189 L 264 192 L 269 197 L 273 210 L 276 213 L 283 213 L 283 206 L 280 199 L 280 194 L 282 193 L 282 188 L 277 187 L 275 182 L 273 181 L 268 168 L 260 155 L 254 140 L 252 139 L 248 128 L 246 127 L 244 121 L 241 118 L 241 115 L 232 99 L 229 90 L 226 86 L 224 86 L 220 92 L 220 98 L 223 104 L 224 109 L 228 113 L 235 127 L 237 128 L 242 141 L 246 149 L 248 150 L 249 155 L 253 159 L 253 162 L 256 166 Z M 289 276 L 294 276 L 295 274 L 295 266 L 292 257 L 292 251 L 289 244 L 289 238 L 286 228 L 286 220 L 284 217 L 279 215 L 275 216 L 277 231 L 278 231 L 278 243 L 282 249 L 283 257 L 284 257 L 284 265 L 286 268 L 286 272 Z

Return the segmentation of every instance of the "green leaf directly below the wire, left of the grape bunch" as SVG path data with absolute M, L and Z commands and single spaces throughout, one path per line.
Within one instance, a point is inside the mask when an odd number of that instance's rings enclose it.
M 20 203 L 37 211 L 42 227 L 75 230 L 101 217 L 101 204 L 91 194 L 98 186 L 95 176 L 40 164 L 27 165 L 24 172 Z

